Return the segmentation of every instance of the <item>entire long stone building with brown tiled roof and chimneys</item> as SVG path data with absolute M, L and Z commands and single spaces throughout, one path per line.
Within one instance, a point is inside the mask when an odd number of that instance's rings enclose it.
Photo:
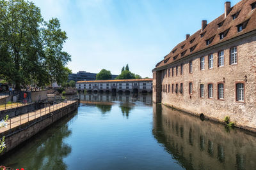
M 153 69 L 153 101 L 256 132 L 256 1 L 243 0 Z

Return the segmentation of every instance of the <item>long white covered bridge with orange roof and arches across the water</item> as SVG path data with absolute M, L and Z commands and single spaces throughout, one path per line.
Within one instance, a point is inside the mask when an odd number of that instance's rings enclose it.
M 152 79 L 77 81 L 76 89 L 87 92 L 147 93 L 152 92 Z

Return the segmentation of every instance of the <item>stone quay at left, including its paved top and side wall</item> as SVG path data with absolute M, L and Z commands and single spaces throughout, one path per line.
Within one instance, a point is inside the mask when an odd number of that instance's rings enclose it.
M 0 157 L 45 127 L 68 115 L 68 113 L 72 113 L 78 106 L 79 101 L 67 101 L 10 118 L 7 127 L 0 129 L 0 138 L 5 136 L 6 143 L 6 148 L 0 153 Z

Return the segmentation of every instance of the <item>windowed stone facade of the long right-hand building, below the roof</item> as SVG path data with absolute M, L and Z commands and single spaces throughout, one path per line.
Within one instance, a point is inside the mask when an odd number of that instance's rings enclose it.
M 237 50 L 237 61 L 231 64 L 234 48 Z M 219 66 L 221 51 L 224 66 Z M 210 62 L 211 56 L 213 64 Z M 201 62 L 202 57 L 204 62 Z M 256 31 L 251 31 L 206 47 L 165 66 L 156 67 L 153 70 L 153 101 L 194 115 L 203 113 L 205 117 L 218 122 L 223 122 L 229 116 L 230 121 L 237 127 L 256 132 L 255 60 Z M 191 73 L 189 62 L 192 62 Z M 202 65 L 204 69 L 201 69 Z M 191 92 L 189 83 L 192 85 Z M 239 91 L 237 83 L 243 85 L 242 90 Z M 237 96 L 237 92 L 241 94 Z

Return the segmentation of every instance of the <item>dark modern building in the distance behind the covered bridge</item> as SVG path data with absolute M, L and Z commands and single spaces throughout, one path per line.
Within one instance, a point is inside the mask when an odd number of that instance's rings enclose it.
M 97 73 L 89 73 L 86 71 L 79 71 L 78 73 L 72 73 L 68 75 L 68 81 L 92 81 L 96 80 Z M 112 75 L 112 79 L 115 79 L 117 75 Z

